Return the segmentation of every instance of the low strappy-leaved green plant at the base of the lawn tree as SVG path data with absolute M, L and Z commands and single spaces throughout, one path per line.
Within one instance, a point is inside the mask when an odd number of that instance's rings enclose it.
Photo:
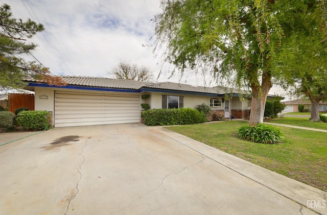
M 284 142 L 284 135 L 280 129 L 260 123 L 256 126 L 242 126 L 237 134 L 242 138 L 261 144 L 278 144 Z

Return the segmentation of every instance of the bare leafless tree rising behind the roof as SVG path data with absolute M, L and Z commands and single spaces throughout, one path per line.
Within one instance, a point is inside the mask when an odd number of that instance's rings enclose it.
M 138 66 L 137 64 L 129 64 L 126 62 L 119 62 L 118 65 L 113 67 L 109 73 L 116 79 L 127 79 L 135 81 L 152 81 L 153 74 L 146 66 Z

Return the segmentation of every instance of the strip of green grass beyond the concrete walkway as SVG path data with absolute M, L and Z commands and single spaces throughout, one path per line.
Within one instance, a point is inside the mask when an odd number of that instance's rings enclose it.
M 327 123 L 310 122 L 309 118 L 283 117 L 267 120 L 265 122 L 327 130 Z

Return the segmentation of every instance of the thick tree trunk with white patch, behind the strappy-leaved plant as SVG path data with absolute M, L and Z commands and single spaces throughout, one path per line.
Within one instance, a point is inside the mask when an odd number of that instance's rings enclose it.
M 271 75 L 267 71 L 263 72 L 261 85 L 252 84 L 250 126 L 264 122 L 267 95 L 271 87 Z

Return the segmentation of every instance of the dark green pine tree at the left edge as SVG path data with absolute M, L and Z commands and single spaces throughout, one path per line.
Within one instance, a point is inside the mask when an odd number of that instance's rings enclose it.
M 0 7 L 0 90 L 24 87 L 22 79 L 27 75 L 52 85 L 64 84 L 59 77 L 52 76 L 48 68 L 24 60 L 37 47 L 27 40 L 43 30 L 41 24 L 31 19 L 14 18 L 9 5 Z

